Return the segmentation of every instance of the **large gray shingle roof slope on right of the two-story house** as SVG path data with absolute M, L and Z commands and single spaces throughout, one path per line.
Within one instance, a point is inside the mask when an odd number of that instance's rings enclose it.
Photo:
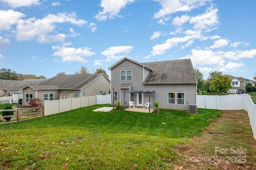
M 196 84 L 196 74 L 190 59 L 142 63 L 151 71 L 143 84 Z

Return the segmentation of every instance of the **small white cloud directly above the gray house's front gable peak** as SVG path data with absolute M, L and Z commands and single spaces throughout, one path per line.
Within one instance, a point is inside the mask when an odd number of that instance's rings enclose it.
M 129 54 L 132 49 L 132 46 L 109 47 L 105 51 L 101 52 L 101 54 L 107 56 L 106 61 L 110 62 L 112 60 L 120 60 L 126 54 Z

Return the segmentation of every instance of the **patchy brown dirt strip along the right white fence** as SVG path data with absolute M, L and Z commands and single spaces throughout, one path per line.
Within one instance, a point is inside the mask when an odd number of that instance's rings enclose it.
M 193 143 L 176 150 L 174 169 L 256 169 L 256 141 L 245 111 L 223 111 Z

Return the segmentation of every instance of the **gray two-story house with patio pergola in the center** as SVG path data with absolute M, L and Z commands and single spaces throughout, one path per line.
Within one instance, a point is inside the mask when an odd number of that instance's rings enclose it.
M 124 91 L 143 90 L 155 91 L 155 101 L 161 108 L 188 110 L 188 104 L 196 104 L 197 80 L 190 59 L 139 63 L 124 57 L 109 70 L 115 103 L 123 105 Z M 154 97 L 150 96 L 153 106 Z M 145 106 L 149 94 L 126 93 L 125 101 L 126 106 L 129 101 Z

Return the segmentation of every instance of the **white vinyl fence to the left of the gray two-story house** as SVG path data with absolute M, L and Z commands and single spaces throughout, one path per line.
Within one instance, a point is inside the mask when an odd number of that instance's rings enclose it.
M 97 95 L 87 97 L 68 98 L 61 100 L 45 100 L 44 115 L 70 111 L 76 108 L 92 106 L 97 104 L 110 104 L 110 95 Z

